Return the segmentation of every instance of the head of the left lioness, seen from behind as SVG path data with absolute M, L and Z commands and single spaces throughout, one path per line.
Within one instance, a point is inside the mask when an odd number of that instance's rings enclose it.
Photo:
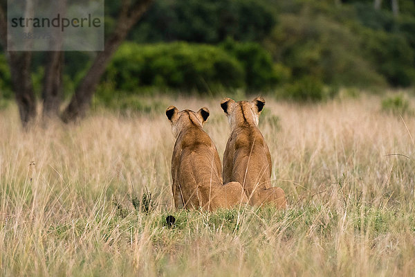
M 198 112 L 191 111 L 190 109 L 184 109 L 178 111 L 174 106 L 170 106 L 166 109 L 166 116 L 172 123 L 172 132 L 175 138 L 180 134 L 181 130 L 190 125 L 196 125 L 202 127 L 203 123 L 208 120 L 210 115 L 209 109 L 203 107 Z

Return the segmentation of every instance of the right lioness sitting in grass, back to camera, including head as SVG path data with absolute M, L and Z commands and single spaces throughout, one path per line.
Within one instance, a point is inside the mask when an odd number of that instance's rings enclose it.
M 273 203 L 285 208 L 284 190 L 271 187 L 271 155 L 257 128 L 264 105 L 261 97 L 252 102 L 235 102 L 230 98 L 221 101 L 231 128 L 223 154 L 223 180 L 241 183 L 251 205 Z

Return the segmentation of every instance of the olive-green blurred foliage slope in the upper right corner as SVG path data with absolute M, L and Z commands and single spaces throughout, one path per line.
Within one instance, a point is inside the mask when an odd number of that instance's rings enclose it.
M 264 45 L 295 80 L 312 75 L 342 86 L 414 84 L 415 8 L 394 17 L 390 7 L 376 10 L 373 1 L 277 5 L 279 24 Z

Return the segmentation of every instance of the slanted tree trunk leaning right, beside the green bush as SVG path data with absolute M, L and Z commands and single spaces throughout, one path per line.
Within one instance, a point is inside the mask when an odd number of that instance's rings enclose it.
M 152 0 L 137 0 L 133 4 L 129 4 L 127 0 L 122 1 L 117 26 L 105 42 L 104 51 L 99 52 L 95 57 L 91 68 L 82 79 L 79 87 L 75 91 L 75 95 L 62 114 L 62 120 L 65 123 L 75 121 L 85 115 L 91 105 L 93 93 L 95 93 L 95 89 L 111 57 L 125 37 L 127 37 L 129 30 L 147 10 L 151 2 Z

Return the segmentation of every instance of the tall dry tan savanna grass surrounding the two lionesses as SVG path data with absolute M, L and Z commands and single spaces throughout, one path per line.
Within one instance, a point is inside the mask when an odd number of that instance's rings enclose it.
M 207 106 L 221 156 L 219 98 L 149 98 L 147 113 L 28 132 L 16 107 L 0 111 L 0 276 L 414 276 L 413 114 L 376 96 L 265 98 L 259 128 L 286 211 L 175 211 L 164 110 Z

